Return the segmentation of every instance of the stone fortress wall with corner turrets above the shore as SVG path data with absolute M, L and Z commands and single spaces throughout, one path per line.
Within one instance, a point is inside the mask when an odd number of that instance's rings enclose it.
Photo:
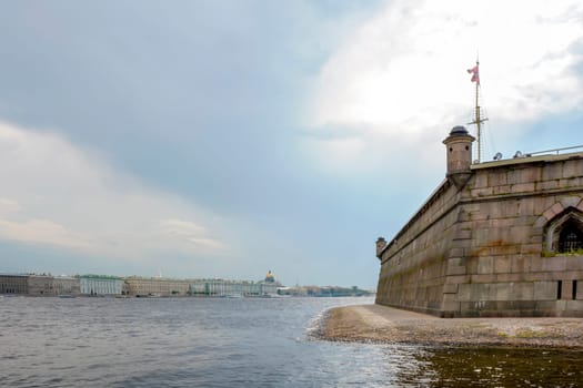
M 583 153 L 471 164 L 444 141 L 448 178 L 389 243 L 376 303 L 443 317 L 583 316 Z

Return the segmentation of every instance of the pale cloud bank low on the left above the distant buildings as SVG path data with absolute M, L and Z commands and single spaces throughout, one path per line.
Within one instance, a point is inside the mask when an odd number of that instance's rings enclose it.
M 0 238 L 142 258 L 225 253 L 223 219 L 56 134 L 0 124 Z

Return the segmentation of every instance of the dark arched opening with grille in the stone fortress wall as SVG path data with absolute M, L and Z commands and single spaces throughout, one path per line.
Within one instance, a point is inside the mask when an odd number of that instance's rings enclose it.
M 583 254 L 583 213 L 569 207 L 552 218 L 545 228 L 545 251 Z

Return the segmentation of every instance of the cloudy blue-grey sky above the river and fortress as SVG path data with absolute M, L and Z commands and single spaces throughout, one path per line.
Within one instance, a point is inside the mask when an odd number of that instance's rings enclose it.
M 375 288 L 478 58 L 483 160 L 583 144 L 579 0 L 0 7 L 0 272 Z

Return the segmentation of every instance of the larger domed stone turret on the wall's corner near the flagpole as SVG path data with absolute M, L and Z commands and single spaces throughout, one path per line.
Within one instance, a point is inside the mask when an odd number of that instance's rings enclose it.
M 446 177 L 458 190 L 462 190 L 472 171 L 472 143 L 475 137 L 468 133 L 461 125 L 454 126 L 443 144 L 448 147 L 448 173 Z

